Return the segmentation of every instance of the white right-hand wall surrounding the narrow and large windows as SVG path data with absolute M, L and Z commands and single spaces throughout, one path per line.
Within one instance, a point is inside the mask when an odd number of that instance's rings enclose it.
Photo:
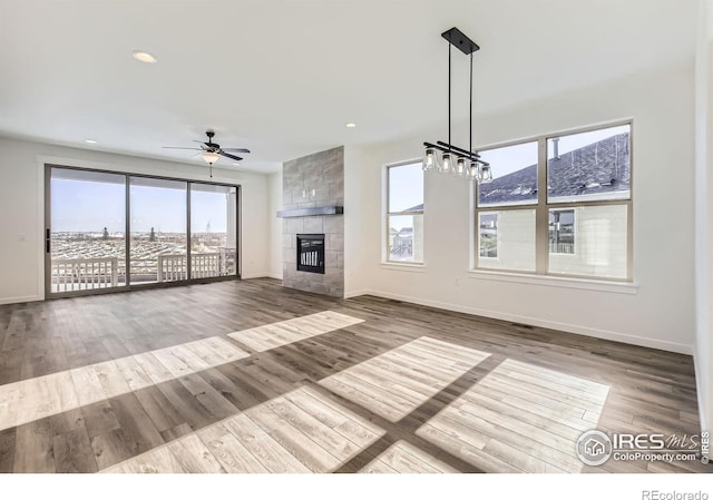
M 348 253 L 362 254 L 359 267 L 350 264 L 348 296 L 369 291 L 692 353 L 694 269 L 685 264 L 693 262 L 694 255 L 692 67 L 661 68 L 654 73 L 553 96 L 496 116 L 477 117 L 475 137 L 485 146 L 625 118 L 634 120 L 635 294 L 615 293 L 615 288 L 579 290 L 477 278 L 468 273 L 472 234 L 468 184 L 436 173 L 428 173 L 426 179 L 424 267 L 382 265 L 379 200 L 383 165 L 420 157 L 424 139 L 443 138 L 446 126 L 441 124 L 410 140 L 362 147 L 362 159 L 346 163 L 346 187 L 351 193 L 346 208 L 350 214 L 356 210 L 360 218 L 348 225 Z M 457 143 L 467 141 L 467 124 L 455 124 L 453 131 Z M 351 186 L 354 178 L 358 187 Z M 350 229 L 361 231 L 355 236 Z M 671 237 L 662 237 L 665 234 Z

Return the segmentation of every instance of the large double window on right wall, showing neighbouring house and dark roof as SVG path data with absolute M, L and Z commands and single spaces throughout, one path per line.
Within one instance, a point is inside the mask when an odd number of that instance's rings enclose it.
M 627 122 L 479 151 L 494 180 L 477 187 L 476 266 L 631 280 L 631 130 Z

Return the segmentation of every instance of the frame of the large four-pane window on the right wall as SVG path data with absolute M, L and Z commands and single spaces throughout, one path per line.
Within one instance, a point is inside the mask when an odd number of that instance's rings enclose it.
M 583 134 L 588 131 L 600 130 L 611 127 L 624 126 L 627 125 L 629 127 L 629 190 L 628 197 L 613 197 L 612 199 L 596 199 L 593 197 L 588 197 L 587 199 L 582 200 L 567 200 L 567 202 L 548 202 L 547 200 L 547 141 L 549 139 L 565 137 L 569 135 Z M 472 268 L 471 272 L 475 273 L 492 273 L 494 274 L 509 274 L 512 276 L 521 275 L 521 276 L 541 276 L 547 278 L 564 278 L 564 280 L 583 280 L 589 283 L 597 282 L 611 282 L 611 283 L 621 283 L 628 284 L 634 281 L 634 120 L 623 119 L 617 121 L 604 122 L 592 125 L 587 127 L 580 127 L 575 129 L 567 129 L 563 131 L 551 133 L 551 134 L 543 134 L 535 137 L 528 137 L 526 139 L 519 139 L 515 141 L 508 143 L 499 143 L 489 146 L 484 146 L 477 148 L 478 151 L 486 151 L 489 149 L 499 149 L 508 146 L 515 146 L 518 144 L 533 143 L 537 141 L 538 144 L 538 158 L 537 158 L 537 200 L 534 200 L 531 204 L 519 204 L 519 205 L 486 205 L 482 207 L 478 206 L 479 198 L 479 189 L 476 186 L 471 189 L 473 196 L 473 210 L 471 210 L 472 222 L 471 227 L 476 229 L 476 237 L 471 238 L 471 245 L 473 248 L 471 249 L 472 256 Z M 592 276 L 592 275 L 578 275 L 578 274 L 566 274 L 566 273 L 550 273 L 549 272 L 549 210 L 550 209 L 575 209 L 576 217 L 576 208 L 584 206 L 607 206 L 607 205 L 624 205 L 626 206 L 626 277 L 616 278 L 609 276 Z M 487 261 L 488 257 L 480 257 L 480 236 L 479 236 L 479 216 L 481 213 L 488 212 L 501 212 L 501 210 L 512 210 L 512 209 L 522 209 L 522 208 L 533 208 L 536 210 L 535 216 L 535 255 L 536 255 L 536 266 L 535 272 L 527 272 L 521 269 L 492 269 L 491 267 L 480 266 L 480 261 Z M 575 219 L 576 220 L 576 219 Z M 575 252 L 576 252 L 576 239 L 575 236 Z M 561 254 L 557 254 L 561 255 Z M 491 258 L 490 258 L 491 259 Z

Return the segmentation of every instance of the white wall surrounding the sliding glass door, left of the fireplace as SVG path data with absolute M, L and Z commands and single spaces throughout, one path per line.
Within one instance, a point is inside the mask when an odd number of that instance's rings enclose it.
M 207 168 L 0 138 L 0 304 L 45 296 L 43 160 L 60 165 L 208 180 Z M 243 277 L 270 269 L 267 176 L 214 169 L 215 182 L 242 185 Z

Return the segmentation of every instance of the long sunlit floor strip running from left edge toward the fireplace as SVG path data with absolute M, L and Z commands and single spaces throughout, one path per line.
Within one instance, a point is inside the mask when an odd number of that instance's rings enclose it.
M 264 351 L 362 323 L 325 311 L 228 334 Z M 0 430 L 219 366 L 251 354 L 212 336 L 0 386 Z

